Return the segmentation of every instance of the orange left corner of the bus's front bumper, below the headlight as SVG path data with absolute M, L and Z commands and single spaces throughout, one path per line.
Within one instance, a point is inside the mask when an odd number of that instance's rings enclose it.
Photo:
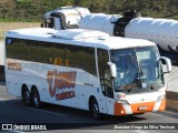
M 115 112 L 113 112 L 115 115 L 126 115 L 127 114 L 122 104 L 115 103 L 113 108 L 115 108 Z

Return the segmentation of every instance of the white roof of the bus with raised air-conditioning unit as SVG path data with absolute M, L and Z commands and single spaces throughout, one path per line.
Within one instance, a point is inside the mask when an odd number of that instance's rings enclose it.
M 49 28 L 28 28 L 10 30 L 6 33 L 6 38 L 8 37 L 102 49 L 126 49 L 134 47 L 156 45 L 154 42 L 142 39 L 109 37 L 107 33 L 100 31 L 83 29 L 58 31 Z

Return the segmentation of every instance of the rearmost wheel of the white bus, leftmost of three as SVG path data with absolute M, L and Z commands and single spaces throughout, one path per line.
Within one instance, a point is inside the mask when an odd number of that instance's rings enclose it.
M 22 101 L 24 105 L 30 106 L 31 105 L 31 94 L 28 89 L 23 89 L 22 91 Z

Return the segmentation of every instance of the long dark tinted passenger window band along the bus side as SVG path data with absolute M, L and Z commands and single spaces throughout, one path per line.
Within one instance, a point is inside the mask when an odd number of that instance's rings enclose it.
M 95 48 L 8 38 L 7 58 L 82 69 L 97 75 Z

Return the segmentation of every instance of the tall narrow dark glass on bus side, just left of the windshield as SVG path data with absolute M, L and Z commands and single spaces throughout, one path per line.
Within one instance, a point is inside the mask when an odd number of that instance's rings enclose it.
M 108 74 L 110 74 L 110 68 L 107 64 L 109 61 L 108 51 L 98 49 L 98 69 L 102 93 L 106 96 L 113 98 L 113 89 L 112 89 L 112 80 L 108 79 Z

